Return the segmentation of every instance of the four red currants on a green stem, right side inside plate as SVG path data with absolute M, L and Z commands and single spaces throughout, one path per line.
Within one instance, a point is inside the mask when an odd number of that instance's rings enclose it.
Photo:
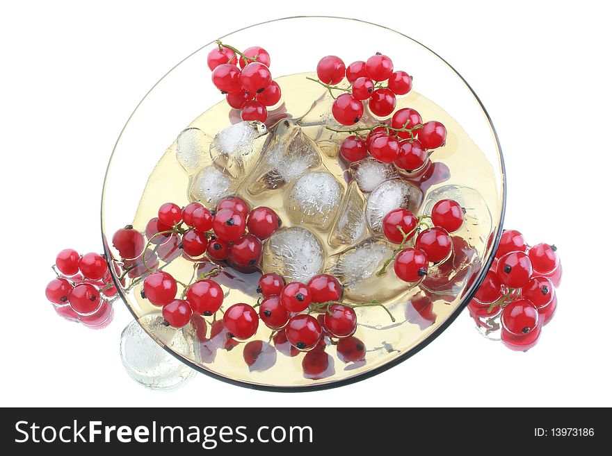
M 401 280 L 412 283 L 424 278 L 430 263 L 440 264 L 451 256 L 453 241 L 449 233 L 462 226 L 464 214 L 459 203 L 451 199 L 435 203 L 431 215 L 416 217 L 403 208 L 389 212 L 383 219 L 383 234 L 399 247 L 383 264 L 378 275 L 385 273 L 387 266 L 394 262 L 394 271 Z M 430 220 L 433 226 L 429 226 L 426 220 Z M 417 233 L 414 247 L 406 247 Z

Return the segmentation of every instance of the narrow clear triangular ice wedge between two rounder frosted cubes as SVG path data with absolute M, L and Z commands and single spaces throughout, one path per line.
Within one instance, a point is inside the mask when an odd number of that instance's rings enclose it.
M 365 207 L 366 200 L 357 187 L 357 183 L 351 182 L 340 205 L 338 217 L 330 231 L 329 243 L 331 246 L 355 244 L 367 234 Z

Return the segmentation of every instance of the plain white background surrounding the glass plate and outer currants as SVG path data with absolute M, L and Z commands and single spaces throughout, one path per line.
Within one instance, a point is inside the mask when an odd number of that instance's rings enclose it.
M 500 3 L 3 2 L 0 404 L 612 405 L 611 11 L 601 1 Z M 558 314 L 536 348 L 515 353 L 486 341 L 465 313 L 410 360 L 348 387 L 283 395 L 199 374 L 160 393 L 123 371 L 125 307 L 115 306 L 113 324 L 97 332 L 51 310 L 44 288 L 57 251 L 102 250 L 104 170 L 138 101 L 212 39 L 290 15 L 394 28 L 440 53 L 472 85 L 506 158 L 506 228 L 532 244 L 554 242 L 563 260 Z M 333 40 L 341 31 L 316 33 Z M 307 37 L 296 38 L 299 52 Z

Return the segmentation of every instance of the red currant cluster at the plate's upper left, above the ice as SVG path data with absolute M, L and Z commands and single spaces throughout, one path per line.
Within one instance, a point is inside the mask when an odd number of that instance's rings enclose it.
M 207 62 L 215 87 L 225 94 L 227 104 L 241 110 L 241 119 L 265 122 L 266 106 L 280 101 L 280 86 L 272 80 L 270 54 L 262 47 L 244 52 L 217 40 Z

